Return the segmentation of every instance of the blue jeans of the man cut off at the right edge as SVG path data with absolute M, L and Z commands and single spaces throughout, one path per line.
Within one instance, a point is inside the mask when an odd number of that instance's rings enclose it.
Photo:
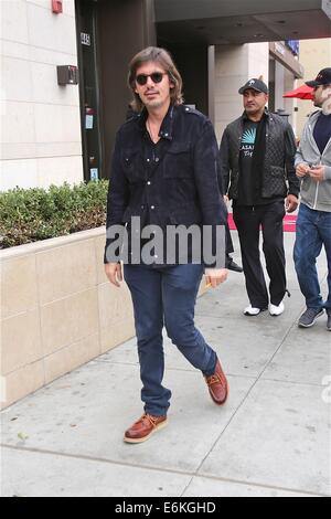
M 317 257 L 322 245 L 328 258 L 329 297 L 323 304 L 318 273 Z M 299 285 L 306 297 L 307 308 L 331 310 L 331 212 L 316 211 L 303 203 L 300 205 L 297 220 L 297 237 L 295 244 L 295 264 Z

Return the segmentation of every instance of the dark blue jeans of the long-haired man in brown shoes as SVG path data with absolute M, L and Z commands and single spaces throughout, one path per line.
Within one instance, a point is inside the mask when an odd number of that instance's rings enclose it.
M 172 342 L 194 368 L 205 375 L 213 374 L 216 368 L 215 351 L 194 326 L 203 266 L 125 265 L 124 275 L 134 303 L 145 412 L 153 416 L 166 415 L 171 391 L 162 386 L 163 325 Z

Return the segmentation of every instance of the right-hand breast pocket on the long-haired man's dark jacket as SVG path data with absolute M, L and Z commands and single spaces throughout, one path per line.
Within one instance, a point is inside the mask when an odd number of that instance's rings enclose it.
M 173 142 L 163 159 L 166 179 L 189 179 L 193 176 L 190 142 Z

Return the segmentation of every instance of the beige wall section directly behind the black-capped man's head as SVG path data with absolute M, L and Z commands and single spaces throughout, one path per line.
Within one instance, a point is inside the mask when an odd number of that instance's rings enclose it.
M 268 83 L 268 43 L 215 46 L 215 129 L 218 140 L 226 125 L 243 112 L 241 86 L 260 75 Z

